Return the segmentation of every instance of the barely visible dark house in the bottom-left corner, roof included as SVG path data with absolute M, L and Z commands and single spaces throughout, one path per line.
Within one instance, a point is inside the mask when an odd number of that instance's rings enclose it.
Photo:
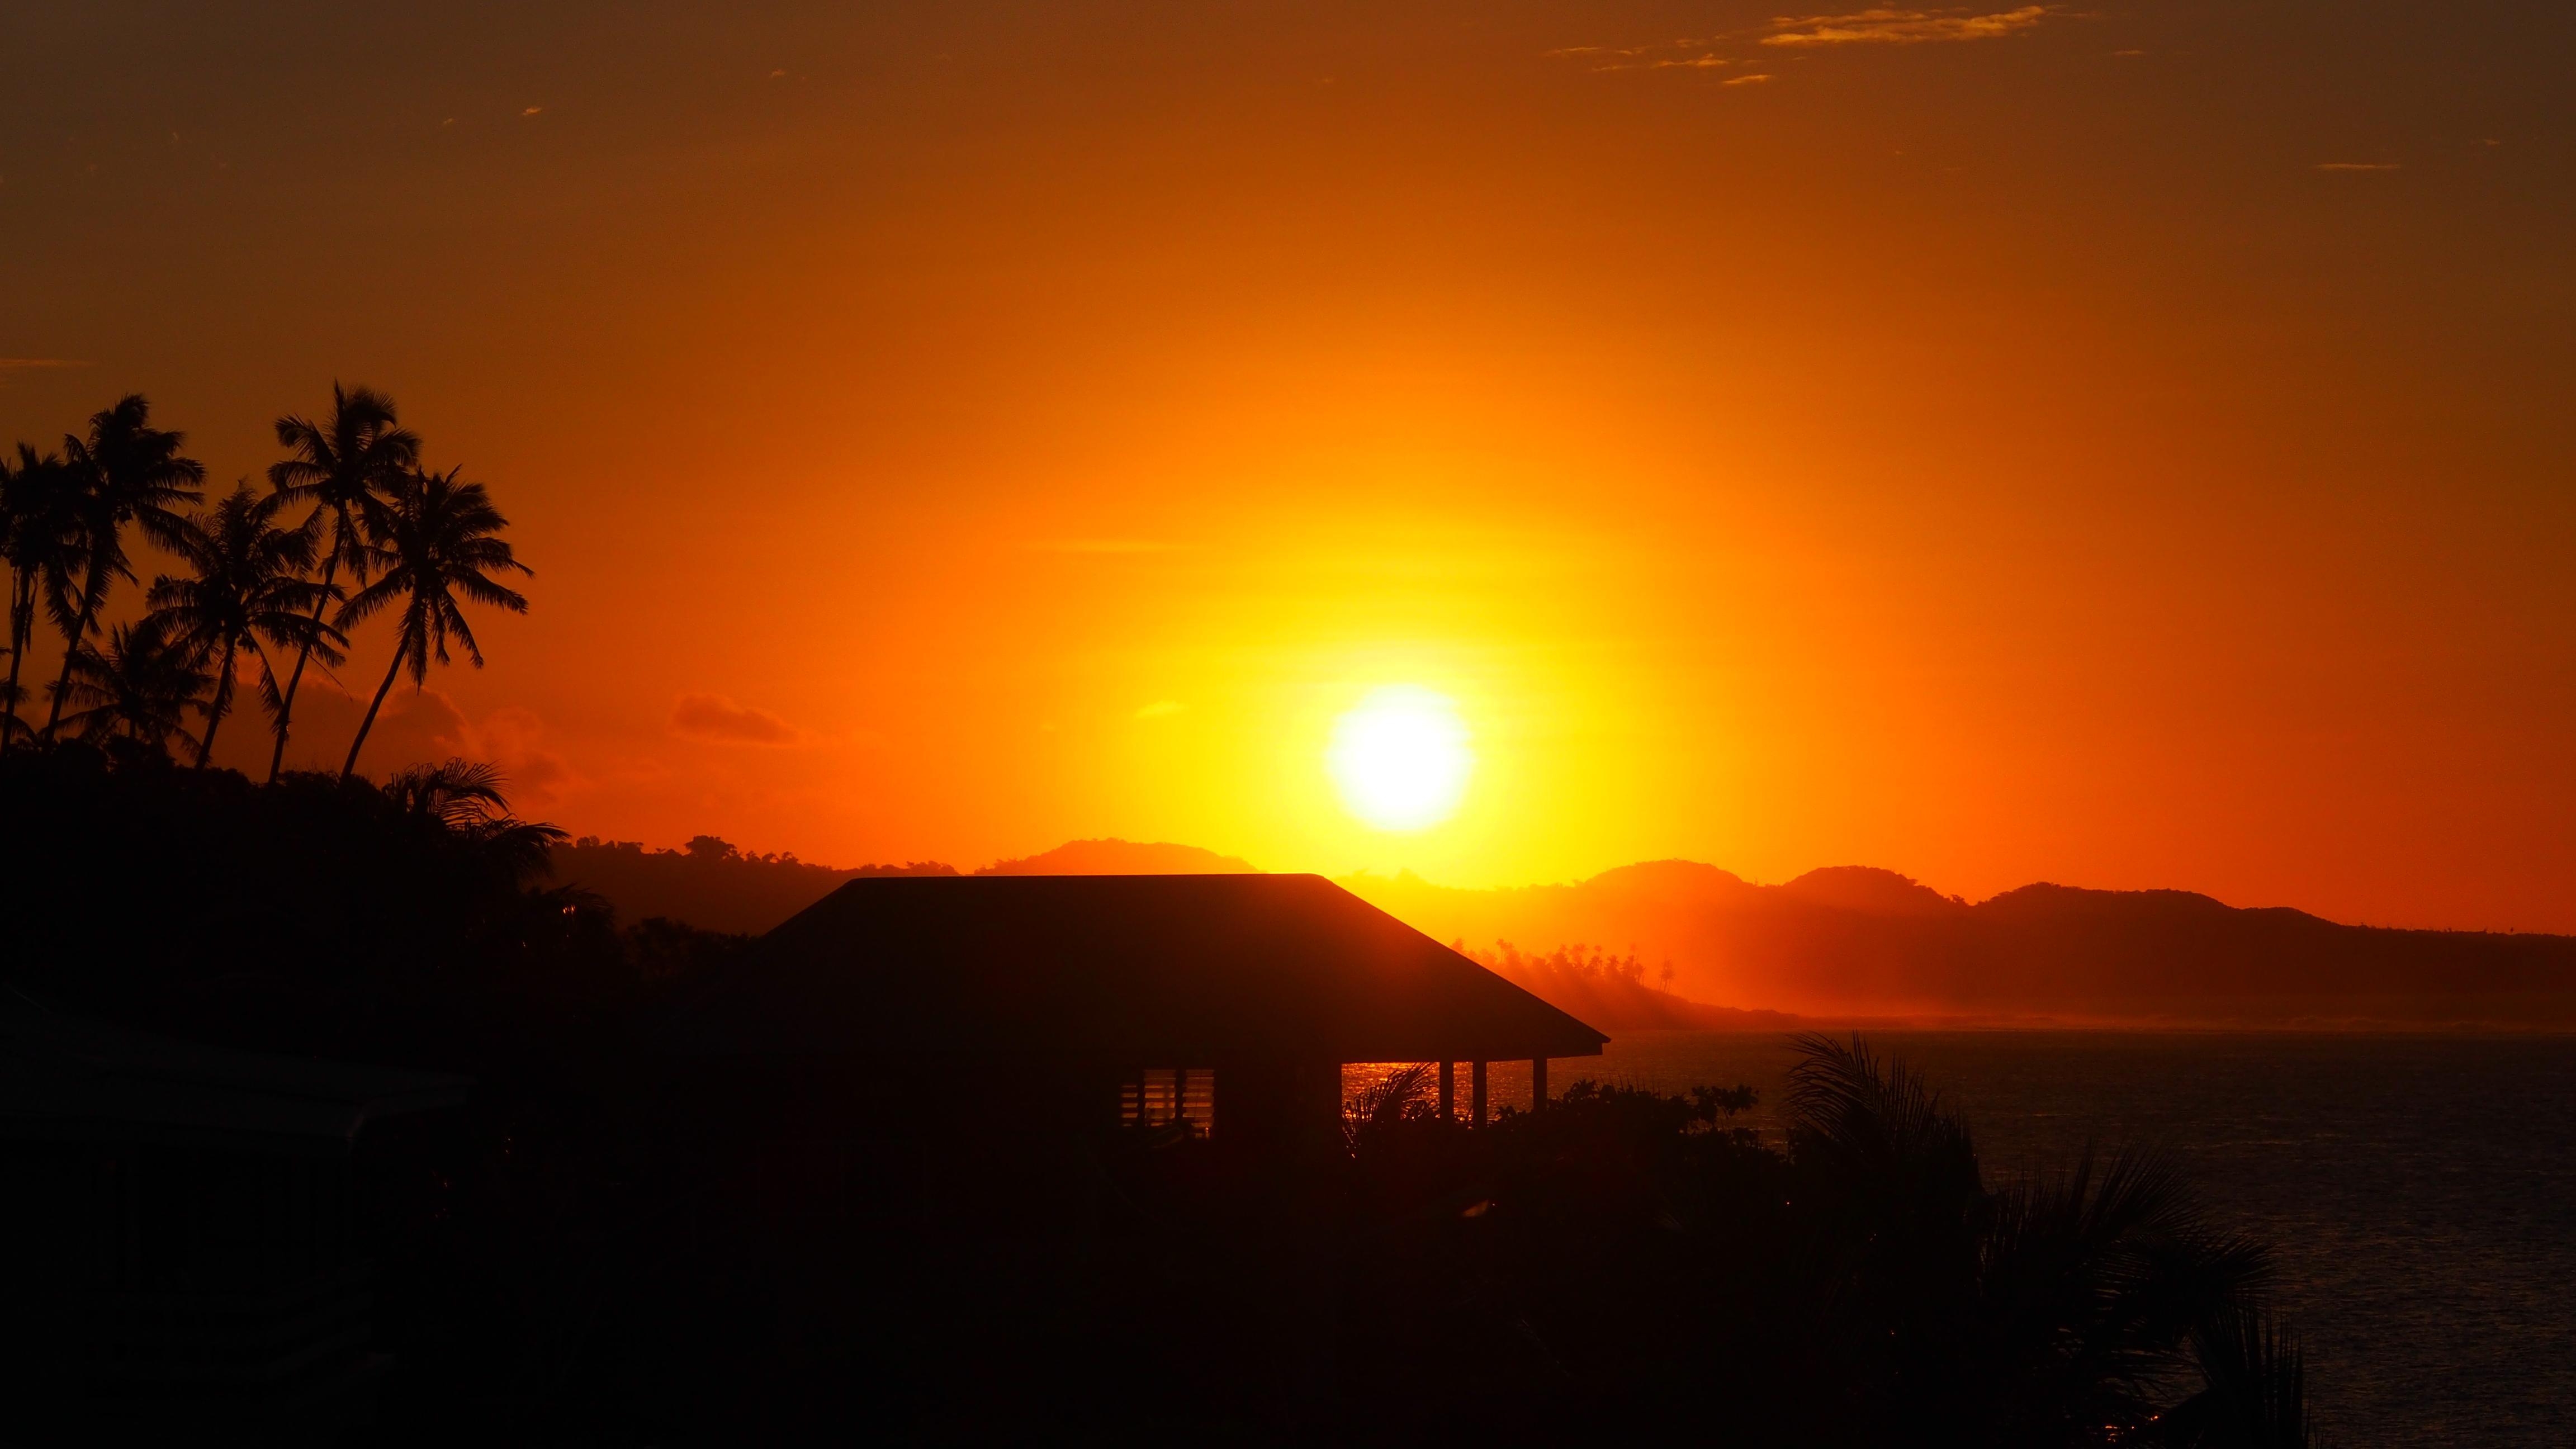
M 350 1152 L 461 1078 L 170 1042 L 0 987 L 0 1387 L 44 1439 L 368 1415 Z

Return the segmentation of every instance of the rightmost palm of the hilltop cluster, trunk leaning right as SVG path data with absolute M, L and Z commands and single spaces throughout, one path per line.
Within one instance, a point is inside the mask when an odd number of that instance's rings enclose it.
M 340 627 L 348 629 L 389 608 L 397 598 L 402 601 L 394 663 L 386 665 L 384 683 L 376 686 L 376 699 L 368 701 L 366 719 L 358 722 L 358 737 L 348 743 L 348 761 L 340 766 L 343 781 L 358 771 L 358 750 L 366 748 L 366 732 L 376 727 L 384 694 L 394 688 L 394 676 L 404 665 L 412 670 L 412 688 L 420 688 L 430 678 L 430 655 L 438 663 L 448 663 L 448 634 L 453 634 L 464 645 L 466 657 L 474 660 L 474 668 L 482 668 L 482 645 L 474 642 L 474 629 L 466 627 L 459 596 L 513 614 L 528 611 L 528 598 L 495 583 L 492 572 L 518 570 L 533 575 L 536 570 L 510 557 L 510 544 L 500 539 L 500 531 L 510 521 L 492 508 L 484 487 L 479 482 L 456 482 L 456 472 L 422 472 L 402 480 L 381 518 L 384 531 L 376 541 L 376 562 L 384 565 L 384 578 L 361 588 L 340 608 Z

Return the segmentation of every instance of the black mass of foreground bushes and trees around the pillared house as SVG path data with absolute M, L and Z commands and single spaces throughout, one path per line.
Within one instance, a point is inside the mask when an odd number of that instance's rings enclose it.
M 556 835 L 477 766 L 21 743 L 0 812 L 21 990 L 474 1075 L 361 1140 L 374 1441 L 2308 1441 L 2262 1248 L 2166 1160 L 1986 1181 L 1857 1042 L 1780 1137 L 1592 1083 L 1468 1129 L 1414 1070 L 1283 1163 L 1051 1119 L 974 1044 L 672 1062 L 739 938 L 536 887 Z

